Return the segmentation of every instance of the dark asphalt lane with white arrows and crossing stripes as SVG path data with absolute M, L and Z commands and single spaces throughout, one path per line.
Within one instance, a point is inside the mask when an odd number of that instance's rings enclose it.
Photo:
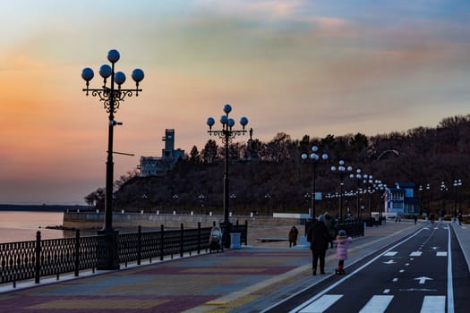
M 453 231 L 430 224 L 267 312 L 467 312 L 468 278 Z

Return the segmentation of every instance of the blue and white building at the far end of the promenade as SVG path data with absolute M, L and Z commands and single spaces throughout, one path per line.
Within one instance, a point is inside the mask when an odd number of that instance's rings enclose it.
M 397 182 L 396 186 L 385 190 L 385 213 L 417 214 L 419 209 L 418 201 L 414 198 L 414 183 Z

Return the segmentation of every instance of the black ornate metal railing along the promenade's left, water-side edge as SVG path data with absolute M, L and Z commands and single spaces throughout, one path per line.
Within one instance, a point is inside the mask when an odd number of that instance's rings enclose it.
M 118 236 L 118 255 L 120 264 L 127 266 L 129 262 L 141 264 L 141 260 L 163 260 L 164 257 L 180 257 L 184 253 L 201 253 L 209 250 L 209 235 L 211 227 L 165 230 L 156 232 L 121 233 Z M 247 244 L 248 224 L 236 226 L 233 232 L 242 233 L 242 242 Z M 20 241 L 0 243 L 0 283 L 12 283 L 26 279 L 34 279 L 39 283 L 40 277 L 74 273 L 79 275 L 81 270 L 95 270 L 98 259 L 106 257 L 107 249 L 100 247 L 103 235 L 81 237 L 80 230 L 75 238 L 41 240 L 41 233 L 36 235 L 36 241 Z M 105 255 L 103 255 L 105 254 Z

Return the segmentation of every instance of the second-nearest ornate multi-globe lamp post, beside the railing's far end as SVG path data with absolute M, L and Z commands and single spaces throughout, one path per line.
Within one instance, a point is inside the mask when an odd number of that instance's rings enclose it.
M 224 106 L 224 115 L 220 117 L 220 123 L 222 123 L 222 129 L 219 131 L 212 131 L 212 126 L 214 126 L 215 120 L 212 117 L 209 117 L 207 124 L 209 126 L 209 135 L 218 136 L 222 140 L 225 146 L 225 170 L 224 170 L 224 222 L 222 223 L 224 228 L 224 233 L 222 236 L 222 242 L 226 248 L 230 247 L 230 229 L 232 224 L 228 219 L 228 144 L 238 135 L 244 135 L 246 130 L 244 129 L 246 124 L 248 124 L 248 119 L 242 117 L 240 119 L 240 124 L 242 125 L 241 131 L 235 131 L 232 128 L 235 125 L 235 120 L 228 117 L 228 114 L 232 112 L 232 106 L 226 104 Z

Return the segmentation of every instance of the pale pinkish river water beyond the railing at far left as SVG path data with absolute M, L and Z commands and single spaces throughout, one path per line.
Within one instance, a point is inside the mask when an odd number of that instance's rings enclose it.
M 0 211 L 0 243 L 35 241 L 38 231 L 41 239 L 74 236 L 71 231 L 45 228 L 62 225 L 63 219 L 62 212 Z

